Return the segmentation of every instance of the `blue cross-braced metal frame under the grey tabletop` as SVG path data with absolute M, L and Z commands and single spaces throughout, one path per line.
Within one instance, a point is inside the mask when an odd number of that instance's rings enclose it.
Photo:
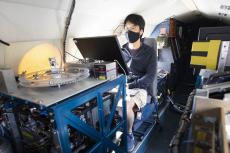
M 113 104 L 111 108 L 111 113 L 107 122 L 105 122 L 105 116 L 103 111 L 103 94 L 109 90 L 118 87 L 118 92 L 113 98 Z M 1 93 L 0 93 L 1 94 Z M 27 100 L 22 100 L 13 95 L 2 94 L 5 97 L 9 97 L 13 100 L 14 104 L 31 104 L 32 102 Z M 72 113 L 72 110 L 90 100 L 97 99 L 97 109 L 99 117 L 99 131 L 85 123 Z M 112 121 L 116 112 L 116 107 L 118 101 L 122 98 L 122 119 L 119 124 L 111 128 Z M 28 103 L 29 102 L 29 103 Z M 37 104 L 35 104 L 37 105 Z M 88 136 L 90 139 L 94 140 L 96 144 L 89 150 L 89 153 L 99 152 L 105 153 L 108 149 L 114 150 L 116 153 L 127 152 L 127 114 L 126 114 L 126 77 L 124 75 L 110 81 L 106 81 L 97 86 L 94 86 L 88 90 L 82 91 L 78 94 L 65 98 L 59 103 L 51 105 L 49 107 L 43 106 L 43 109 L 47 109 L 54 115 L 54 125 L 58 135 L 59 144 L 62 153 L 71 153 L 68 125 L 81 132 L 82 134 Z M 123 132 L 123 145 L 118 146 L 113 143 L 110 138 L 115 134 L 116 131 L 122 128 Z

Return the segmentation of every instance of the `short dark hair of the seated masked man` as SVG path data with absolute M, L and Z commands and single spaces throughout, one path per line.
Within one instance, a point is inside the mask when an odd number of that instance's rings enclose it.
M 145 29 L 145 20 L 141 15 L 139 15 L 139 14 L 129 14 L 125 18 L 124 26 L 128 21 L 133 23 L 134 25 L 138 25 L 140 27 L 140 29 L 142 29 L 144 31 L 144 29 Z

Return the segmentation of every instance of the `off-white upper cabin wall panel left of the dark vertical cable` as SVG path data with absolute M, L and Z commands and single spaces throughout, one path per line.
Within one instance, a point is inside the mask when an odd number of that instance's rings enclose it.
M 42 1 L 0 1 L 0 38 L 7 42 L 60 39 L 68 5 L 52 0 L 53 8 L 47 8 L 46 3 L 51 2 Z

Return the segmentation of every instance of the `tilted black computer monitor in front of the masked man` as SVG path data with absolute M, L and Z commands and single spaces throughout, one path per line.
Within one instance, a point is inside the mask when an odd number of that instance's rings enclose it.
M 125 74 L 128 74 L 128 68 L 122 57 L 122 50 L 116 36 L 84 37 L 73 40 L 84 58 L 104 61 L 117 60 L 120 65 L 118 66 L 119 73 L 125 71 Z

